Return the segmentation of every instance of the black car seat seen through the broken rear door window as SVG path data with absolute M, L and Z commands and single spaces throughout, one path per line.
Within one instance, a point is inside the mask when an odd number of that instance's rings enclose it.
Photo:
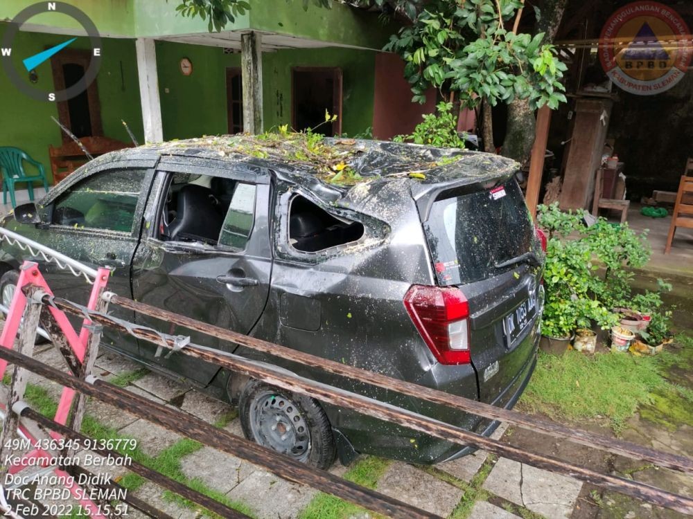
M 215 207 L 211 194 L 211 189 L 201 185 L 184 185 L 178 193 L 175 220 L 168 227 L 171 240 L 216 244 L 224 215 Z

